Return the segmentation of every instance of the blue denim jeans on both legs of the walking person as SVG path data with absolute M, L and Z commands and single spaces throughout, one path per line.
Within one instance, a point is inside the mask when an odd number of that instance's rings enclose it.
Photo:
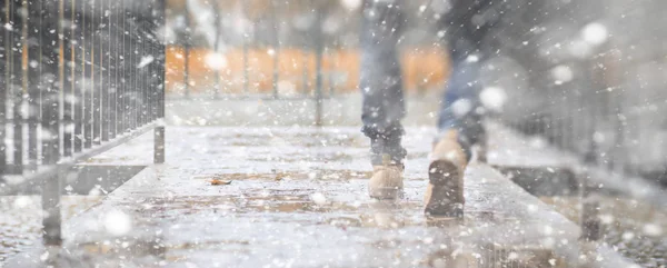
M 407 155 L 400 143 L 405 133 L 400 120 L 406 108 L 396 48 L 402 23 L 400 3 L 394 1 L 387 6 L 382 1 L 367 0 L 364 6 L 359 88 L 364 97 L 362 132 L 371 140 L 372 165 L 386 163 L 387 156 L 391 163 L 400 165 Z M 469 6 L 465 1 L 461 4 Z M 442 96 L 437 127 L 440 133 L 457 130 L 459 142 L 470 158 L 470 146 L 480 142 L 485 136 L 478 82 L 484 57 L 477 47 L 479 32 L 467 30 L 475 29 L 471 27 L 461 29 L 449 36 L 447 48 L 452 70 Z

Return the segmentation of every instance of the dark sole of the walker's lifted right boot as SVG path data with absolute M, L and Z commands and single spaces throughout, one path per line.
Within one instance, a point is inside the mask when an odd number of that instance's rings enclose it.
M 436 160 L 428 167 L 428 179 L 434 186 L 431 197 L 426 204 L 424 212 L 431 217 L 462 218 L 464 208 L 460 202 L 452 202 L 456 198 L 459 180 L 459 170 L 450 161 Z M 449 195 L 448 195 L 449 192 Z

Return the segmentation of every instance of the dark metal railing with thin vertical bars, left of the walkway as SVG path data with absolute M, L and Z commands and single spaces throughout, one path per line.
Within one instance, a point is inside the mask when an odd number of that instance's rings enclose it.
M 0 176 L 43 183 L 44 242 L 59 245 L 69 168 L 148 130 L 165 161 L 165 1 L 0 3 Z

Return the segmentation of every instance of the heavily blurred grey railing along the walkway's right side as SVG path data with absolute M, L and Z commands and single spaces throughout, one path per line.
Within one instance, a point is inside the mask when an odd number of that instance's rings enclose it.
M 538 1 L 495 29 L 496 61 L 512 82 L 501 86 L 501 118 L 547 137 L 583 160 L 621 173 L 664 171 L 664 1 Z M 607 8 L 600 8 L 607 7 Z M 630 10 L 631 12 L 628 12 Z M 502 80 L 502 79 L 498 79 Z M 509 79 L 505 79 L 509 80 Z

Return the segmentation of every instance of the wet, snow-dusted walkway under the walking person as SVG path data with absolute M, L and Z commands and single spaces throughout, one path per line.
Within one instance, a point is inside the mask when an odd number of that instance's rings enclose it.
M 356 128 L 169 127 L 166 165 L 68 221 L 64 250 L 8 267 L 567 267 L 578 257 L 575 224 L 480 163 L 466 172 L 465 220 L 427 220 L 432 135 L 408 129 L 405 199 L 378 202 Z M 140 137 L 91 165 L 148 163 L 151 145 Z

